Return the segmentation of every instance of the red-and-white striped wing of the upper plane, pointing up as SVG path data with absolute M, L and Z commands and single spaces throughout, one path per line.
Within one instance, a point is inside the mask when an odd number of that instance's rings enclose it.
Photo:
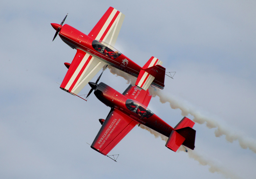
M 107 12 L 98 21 L 88 36 L 115 46 L 124 17 L 124 14 L 120 13 L 113 7 L 109 7 Z

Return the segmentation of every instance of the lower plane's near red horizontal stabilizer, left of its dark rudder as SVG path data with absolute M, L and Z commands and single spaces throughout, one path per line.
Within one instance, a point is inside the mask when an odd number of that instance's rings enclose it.
M 179 149 L 179 147 L 181 146 L 181 144 L 184 142 L 184 140 L 185 140 L 185 138 L 183 136 L 181 136 L 181 134 L 179 134 L 176 131 L 172 131 L 165 146 L 168 149 L 171 149 L 174 152 L 176 152 Z

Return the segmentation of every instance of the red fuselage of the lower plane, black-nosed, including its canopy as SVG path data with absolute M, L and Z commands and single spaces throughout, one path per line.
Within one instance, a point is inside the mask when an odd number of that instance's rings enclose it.
M 135 100 L 128 99 L 115 89 L 104 83 L 99 83 L 94 91 L 95 96 L 104 104 L 121 111 L 136 122 L 143 124 L 167 137 L 175 130 L 146 106 Z

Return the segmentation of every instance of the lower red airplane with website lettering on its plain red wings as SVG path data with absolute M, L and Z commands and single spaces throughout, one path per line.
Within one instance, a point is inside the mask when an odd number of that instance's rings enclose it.
M 192 120 L 184 117 L 172 128 L 147 108 L 152 97 L 148 89 L 145 91 L 130 85 L 121 94 L 103 82 L 97 84 L 99 78 L 96 83 L 89 82 L 91 90 L 88 95 L 94 89 L 95 96 L 111 110 L 106 120 L 99 119 L 102 127 L 91 145 L 92 149 L 106 156 L 136 124 L 143 124 L 168 137 L 165 146 L 174 152 L 181 145 L 192 150 L 195 148 L 195 130 L 192 129 L 195 123 Z

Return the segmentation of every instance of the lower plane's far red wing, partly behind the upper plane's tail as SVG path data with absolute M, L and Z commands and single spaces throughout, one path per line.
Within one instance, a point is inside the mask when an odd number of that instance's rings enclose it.
M 136 86 L 128 86 L 128 88 L 124 91 L 123 95 L 129 99 L 136 100 L 146 107 L 149 105 L 151 95 L 149 94 L 149 90 L 141 90 Z

